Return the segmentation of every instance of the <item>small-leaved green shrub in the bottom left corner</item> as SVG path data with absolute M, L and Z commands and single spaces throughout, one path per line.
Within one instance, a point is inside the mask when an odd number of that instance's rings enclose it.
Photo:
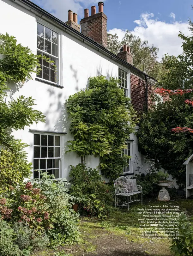
M 8 223 L 0 220 L 0 256 L 20 256 L 22 251 L 14 244 L 14 230 Z

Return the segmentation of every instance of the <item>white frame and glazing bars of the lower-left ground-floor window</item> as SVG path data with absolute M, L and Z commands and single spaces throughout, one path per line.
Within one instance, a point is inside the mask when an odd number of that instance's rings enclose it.
M 50 136 L 57 136 L 57 137 L 60 137 L 60 145 L 59 146 L 57 146 L 57 147 L 59 147 L 59 149 L 60 149 L 60 154 L 59 154 L 59 157 L 34 157 L 34 155 L 33 155 L 33 160 L 40 160 L 40 159 L 59 159 L 59 161 L 58 161 L 58 168 L 55 168 L 55 169 L 59 169 L 59 178 L 58 179 L 60 179 L 61 178 L 61 148 L 62 148 L 62 143 L 61 143 L 61 140 L 62 140 L 62 136 L 60 135 L 60 134 L 57 134 L 57 133 L 48 133 L 48 132 L 39 132 L 39 131 L 37 131 L 37 132 L 33 132 L 33 139 L 34 139 L 34 135 L 47 135 L 47 146 L 45 146 L 45 147 L 47 147 L 47 156 L 48 156 L 48 136 L 50 135 Z M 54 137 L 55 138 L 55 137 Z M 41 156 L 41 136 L 40 136 L 40 145 L 34 145 L 34 142 L 33 142 L 33 150 L 34 150 L 34 146 L 35 147 L 40 147 L 40 156 Z M 51 147 L 53 147 L 54 149 L 55 149 L 55 139 L 54 139 L 54 146 L 51 146 Z M 34 151 L 33 151 L 34 152 Z M 40 167 L 40 163 L 39 163 L 39 167 Z M 54 168 L 50 168 L 50 169 L 54 169 Z M 47 161 L 46 161 L 46 170 L 47 170 Z M 34 169 L 33 169 L 33 172 L 34 172 Z M 33 175 L 34 176 L 34 175 Z M 39 176 L 39 178 L 40 178 L 40 172 L 38 172 L 38 176 Z M 56 180 L 57 180 L 57 178 L 56 178 Z

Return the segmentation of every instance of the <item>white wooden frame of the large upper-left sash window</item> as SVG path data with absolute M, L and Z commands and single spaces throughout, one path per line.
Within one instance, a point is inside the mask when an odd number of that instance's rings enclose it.
M 58 57 L 54 56 L 54 55 L 51 55 L 50 53 L 46 53 L 42 50 L 39 50 L 37 48 L 37 31 L 38 31 L 38 23 L 40 23 L 41 25 L 45 26 L 45 27 L 48 27 L 52 30 L 54 30 L 55 32 L 58 33 Z M 57 27 L 53 26 L 52 24 L 40 19 L 39 17 L 36 17 L 36 52 L 39 51 L 39 52 L 43 52 L 47 55 L 50 55 L 51 57 L 53 58 L 56 58 L 57 59 L 57 81 L 56 83 L 55 82 L 51 82 L 49 80 L 46 80 L 44 78 L 40 78 L 38 76 L 36 76 L 39 80 L 42 80 L 43 82 L 47 82 L 47 83 L 51 83 L 51 84 L 55 84 L 55 85 L 62 85 L 62 68 L 61 68 L 61 65 L 62 65 L 62 50 L 61 50 L 61 46 L 62 46 L 62 31 L 60 29 L 58 29 Z

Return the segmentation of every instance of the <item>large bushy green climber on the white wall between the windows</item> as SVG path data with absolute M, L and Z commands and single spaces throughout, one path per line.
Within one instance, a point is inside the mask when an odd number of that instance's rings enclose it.
M 74 135 L 67 152 L 76 152 L 82 165 L 86 155 L 100 156 L 102 174 L 111 179 L 127 165 L 128 157 L 122 150 L 138 120 L 130 99 L 117 85 L 115 78 L 91 77 L 88 89 L 66 101 L 70 132 Z

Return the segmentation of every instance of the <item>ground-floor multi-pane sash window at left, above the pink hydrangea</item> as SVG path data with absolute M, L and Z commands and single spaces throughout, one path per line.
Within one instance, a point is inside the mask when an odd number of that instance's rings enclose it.
M 41 178 L 39 170 L 60 176 L 60 136 L 33 135 L 33 177 Z

